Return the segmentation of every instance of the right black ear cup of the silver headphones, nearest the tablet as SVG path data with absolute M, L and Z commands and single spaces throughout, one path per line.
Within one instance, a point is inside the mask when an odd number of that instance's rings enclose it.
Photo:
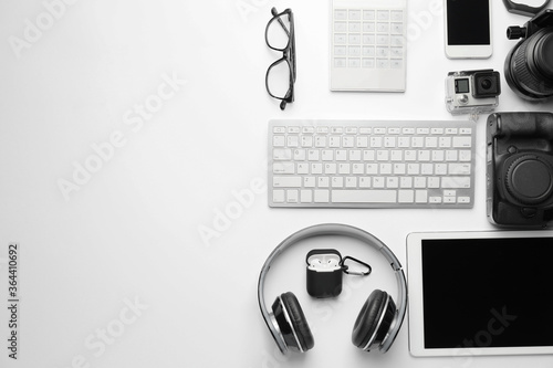
M 379 346 L 392 326 L 396 304 L 388 293 L 375 290 L 368 296 L 355 320 L 352 343 L 366 351 Z

